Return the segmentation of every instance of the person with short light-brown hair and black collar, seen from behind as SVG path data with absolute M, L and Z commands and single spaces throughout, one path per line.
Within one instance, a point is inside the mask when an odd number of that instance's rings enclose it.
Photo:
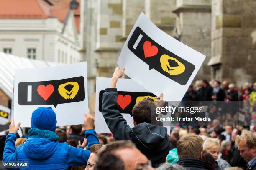
M 194 134 L 183 135 L 177 142 L 179 165 L 187 170 L 206 170 L 202 161 L 202 137 Z

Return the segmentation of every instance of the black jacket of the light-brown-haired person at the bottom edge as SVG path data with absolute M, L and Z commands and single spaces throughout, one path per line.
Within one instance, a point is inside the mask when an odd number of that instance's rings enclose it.
M 177 161 L 177 164 L 186 167 L 187 170 L 207 170 L 205 163 L 200 159 L 184 158 Z

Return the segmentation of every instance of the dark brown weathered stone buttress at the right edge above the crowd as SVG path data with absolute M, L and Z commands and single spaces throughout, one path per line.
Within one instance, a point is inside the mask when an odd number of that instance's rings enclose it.
M 256 80 L 256 1 L 212 0 L 212 80 Z

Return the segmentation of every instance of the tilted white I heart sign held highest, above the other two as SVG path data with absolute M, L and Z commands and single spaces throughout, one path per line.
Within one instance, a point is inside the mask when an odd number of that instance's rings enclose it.
M 204 60 L 205 55 L 167 35 L 141 13 L 117 63 L 148 91 L 164 93 L 166 101 L 180 101 Z

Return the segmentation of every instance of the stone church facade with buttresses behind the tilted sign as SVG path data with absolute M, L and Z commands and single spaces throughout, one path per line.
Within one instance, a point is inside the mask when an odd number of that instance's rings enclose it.
M 255 0 L 81 0 L 88 92 L 111 77 L 123 44 L 143 12 L 161 30 L 206 55 L 195 80 L 256 80 Z

